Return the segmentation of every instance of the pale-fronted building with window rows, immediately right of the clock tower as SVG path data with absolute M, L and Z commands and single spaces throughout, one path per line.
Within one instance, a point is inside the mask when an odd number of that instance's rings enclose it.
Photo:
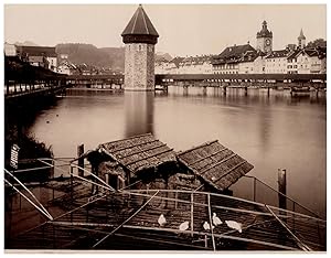
M 288 54 L 288 50 L 279 50 L 266 55 L 266 74 L 286 74 Z

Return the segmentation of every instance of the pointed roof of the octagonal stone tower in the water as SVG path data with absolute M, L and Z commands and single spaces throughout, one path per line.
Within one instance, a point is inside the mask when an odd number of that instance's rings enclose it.
M 126 26 L 121 35 L 122 36 L 125 35 L 159 36 L 157 30 L 154 29 L 153 24 L 149 20 L 141 4 L 139 4 L 137 11 L 135 12 L 134 17 L 129 21 L 128 25 Z

